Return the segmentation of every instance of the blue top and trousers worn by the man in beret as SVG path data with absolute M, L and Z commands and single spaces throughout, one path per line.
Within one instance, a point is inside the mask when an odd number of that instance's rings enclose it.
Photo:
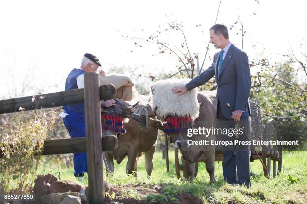
M 74 68 L 67 76 L 65 90 L 77 89 L 77 77 L 84 74 L 82 69 Z M 65 113 L 64 124 L 72 138 L 85 137 L 85 111 L 84 103 L 63 106 Z M 86 153 L 74 154 L 74 176 L 82 177 L 87 173 Z

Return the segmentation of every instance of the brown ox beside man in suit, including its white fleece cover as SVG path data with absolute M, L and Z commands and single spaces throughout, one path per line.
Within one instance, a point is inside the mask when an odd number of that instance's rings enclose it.
M 194 120 L 194 128 L 217 128 L 216 108 L 217 101 L 215 91 L 199 92 L 195 89 L 178 96 L 172 93 L 172 88 L 185 84 L 186 80 L 162 80 L 151 86 L 153 96 L 153 108 L 158 119 L 167 116 L 190 117 Z M 199 103 L 202 103 L 199 105 Z M 174 147 L 179 148 L 182 153 L 182 163 L 185 166 L 184 177 L 193 181 L 196 175 L 196 162 L 206 162 L 206 170 L 210 176 L 210 182 L 214 178 L 215 146 L 188 145 L 188 140 L 202 141 L 216 139 L 214 134 L 196 134 L 188 137 L 187 128 L 180 132 L 170 133 Z M 191 143 L 191 142 L 190 142 Z

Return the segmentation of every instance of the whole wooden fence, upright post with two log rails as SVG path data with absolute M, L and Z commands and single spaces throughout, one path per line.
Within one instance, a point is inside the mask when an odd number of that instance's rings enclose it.
M 112 135 L 102 137 L 100 101 L 115 95 L 116 89 L 112 84 L 100 86 L 99 75 L 87 72 L 84 74 L 84 89 L 1 100 L 0 114 L 84 103 L 86 137 L 46 140 L 42 155 L 86 152 L 89 202 L 102 203 L 102 151 L 112 151 L 118 141 Z M 2 156 L 0 152 L 0 158 Z

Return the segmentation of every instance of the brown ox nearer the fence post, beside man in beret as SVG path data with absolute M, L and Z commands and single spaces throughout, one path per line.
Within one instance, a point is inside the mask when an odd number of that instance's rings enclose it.
M 133 100 L 131 103 L 139 101 L 140 105 L 146 106 L 149 103 L 149 97 L 140 95 L 136 91 L 133 91 Z M 137 106 L 136 106 L 137 107 Z M 152 110 L 149 109 L 149 116 L 152 116 Z M 133 110 L 132 110 L 133 112 Z M 154 162 L 152 159 L 156 150 L 156 143 L 158 138 L 158 132 L 154 127 L 148 126 L 143 128 L 139 122 L 134 119 L 129 119 L 129 122 L 125 124 L 126 133 L 118 135 L 118 146 L 112 152 L 104 152 L 107 160 L 108 169 L 107 173 L 114 172 L 113 158 L 118 164 L 128 156 L 128 162 L 126 164 L 126 173 L 128 175 L 134 174 L 137 176 L 137 161 L 138 156 L 142 152 L 145 154 L 145 166 L 147 175 L 150 176 L 152 169 L 154 168 Z M 104 131 L 103 134 L 112 134 L 111 132 Z

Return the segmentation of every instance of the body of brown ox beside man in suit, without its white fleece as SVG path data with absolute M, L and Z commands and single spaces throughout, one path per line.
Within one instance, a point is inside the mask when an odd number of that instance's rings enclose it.
M 203 104 L 199 108 L 199 116 L 195 120 L 194 128 L 204 127 L 208 129 L 218 128 L 216 119 L 216 107 L 217 102 L 215 99 L 216 92 L 200 92 L 197 94 L 197 100 Z M 216 140 L 216 136 L 211 134 L 208 137 L 202 134 L 196 134 L 191 137 L 187 136 L 187 131 L 170 134 L 171 140 L 176 143 L 175 146 L 179 147 L 182 154 L 182 163 L 186 168 L 184 169 L 184 177 L 187 180 L 193 181 L 195 177 L 196 162 L 205 162 L 206 170 L 210 176 L 210 182 L 214 179 L 214 159 L 215 159 L 215 147 L 210 145 L 188 145 L 191 141 L 207 140 L 210 143 L 211 139 Z M 177 141 L 177 142 L 176 142 Z

